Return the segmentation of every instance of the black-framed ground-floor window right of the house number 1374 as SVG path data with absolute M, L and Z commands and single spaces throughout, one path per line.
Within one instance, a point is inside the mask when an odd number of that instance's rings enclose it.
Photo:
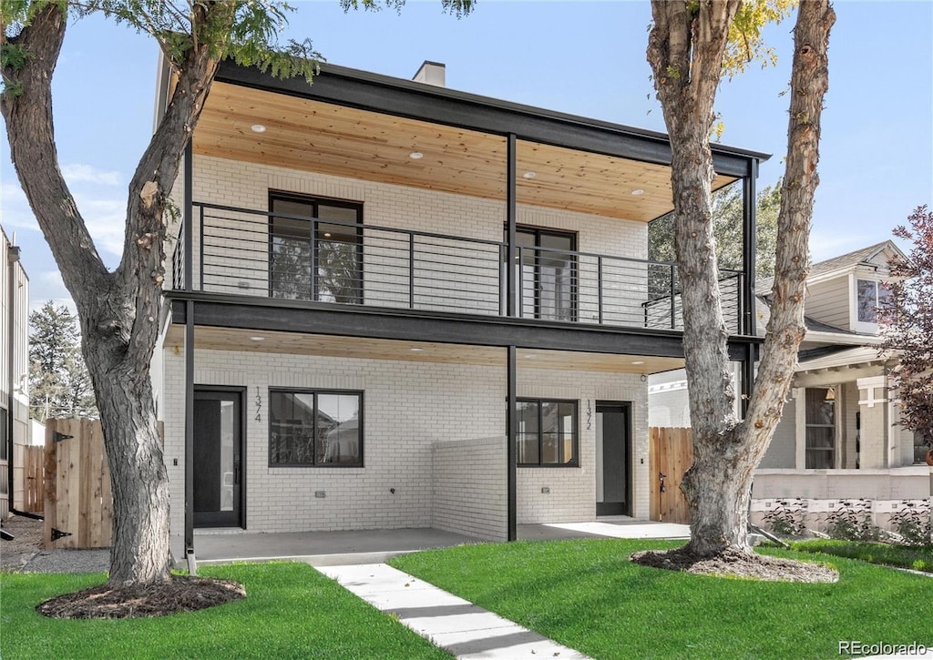
M 269 464 L 362 467 L 362 392 L 270 390 Z

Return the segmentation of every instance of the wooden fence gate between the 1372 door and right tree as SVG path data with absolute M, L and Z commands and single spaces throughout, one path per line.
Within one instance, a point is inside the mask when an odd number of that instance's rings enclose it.
M 689 525 L 689 507 L 680 481 L 693 464 L 693 433 L 690 429 L 652 427 L 649 435 L 651 519 Z

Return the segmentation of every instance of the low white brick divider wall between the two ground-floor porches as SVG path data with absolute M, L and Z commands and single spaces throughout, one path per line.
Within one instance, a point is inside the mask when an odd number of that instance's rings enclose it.
M 505 436 L 436 442 L 431 450 L 431 526 L 488 541 L 505 541 Z

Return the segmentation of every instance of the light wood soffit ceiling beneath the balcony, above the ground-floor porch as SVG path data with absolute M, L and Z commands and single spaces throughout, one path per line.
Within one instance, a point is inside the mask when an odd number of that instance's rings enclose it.
M 256 339 L 254 337 L 262 338 Z M 481 364 L 502 367 L 505 367 L 506 364 L 506 350 L 495 347 L 399 341 L 395 339 L 301 335 L 266 330 L 197 326 L 194 332 L 194 343 L 195 349 L 198 351 L 251 351 L 402 362 Z M 182 351 L 185 346 L 184 326 L 172 325 L 169 328 L 165 346 L 169 350 Z M 684 365 L 681 358 L 539 351 L 521 348 L 517 351 L 517 357 L 518 366 L 522 369 L 579 369 L 625 374 L 654 374 L 678 369 Z

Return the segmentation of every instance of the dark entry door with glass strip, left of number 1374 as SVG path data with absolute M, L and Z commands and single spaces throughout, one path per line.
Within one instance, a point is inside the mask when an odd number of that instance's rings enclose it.
M 194 392 L 194 526 L 243 527 L 243 392 Z

